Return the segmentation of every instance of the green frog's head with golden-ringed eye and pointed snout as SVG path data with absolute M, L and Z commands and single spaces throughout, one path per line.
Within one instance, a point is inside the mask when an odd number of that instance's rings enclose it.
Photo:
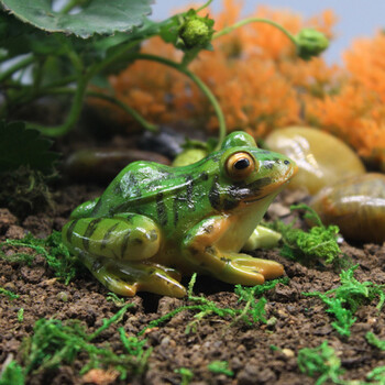
M 285 155 L 258 148 L 245 132 L 228 135 L 219 151 L 220 173 L 210 190 L 218 209 L 231 210 L 270 198 L 297 173 L 297 165 Z

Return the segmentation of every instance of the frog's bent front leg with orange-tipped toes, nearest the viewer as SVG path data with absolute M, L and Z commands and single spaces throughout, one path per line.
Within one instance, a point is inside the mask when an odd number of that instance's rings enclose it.
M 277 262 L 222 251 L 221 239 L 228 237 L 230 227 L 231 219 L 224 216 L 202 220 L 186 235 L 184 256 L 197 268 L 229 284 L 261 285 L 266 278 L 284 274 L 284 267 Z

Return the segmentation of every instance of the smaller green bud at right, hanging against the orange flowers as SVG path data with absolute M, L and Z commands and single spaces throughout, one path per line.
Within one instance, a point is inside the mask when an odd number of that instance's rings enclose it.
M 314 29 L 304 29 L 295 36 L 297 54 L 304 61 L 318 56 L 329 46 L 328 37 Z

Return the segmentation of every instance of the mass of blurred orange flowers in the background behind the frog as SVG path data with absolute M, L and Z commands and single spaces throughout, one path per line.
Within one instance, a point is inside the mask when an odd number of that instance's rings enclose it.
M 215 29 L 234 24 L 241 11 L 242 2 L 224 0 Z M 294 34 L 311 26 L 330 37 L 336 23 L 328 10 L 304 20 L 289 11 L 258 7 L 250 16 L 273 20 Z M 383 33 L 356 41 L 344 55 L 345 68 L 330 66 L 322 58 L 299 59 L 289 38 L 266 23 L 237 29 L 216 38 L 213 46 L 213 52 L 201 52 L 189 68 L 219 100 L 229 130 L 242 129 L 260 138 L 289 124 L 316 125 L 342 138 L 361 156 L 385 164 Z M 182 58 L 182 52 L 157 37 L 142 51 L 176 62 Z M 173 68 L 139 61 L 110 81 L 118 99 L 154 123 L 183 120 L 198 129 L 218 129 L 206 96 Z M 114 109 L 114 114 L 130 122 L 120 110 Z

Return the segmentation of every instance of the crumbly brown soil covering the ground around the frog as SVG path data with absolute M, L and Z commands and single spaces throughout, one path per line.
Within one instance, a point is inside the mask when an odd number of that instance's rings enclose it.
M 100 187 L 72 185 L 58 188 L 55 216 L 40 212 L 23 221 L 8 210 L 0 211 L 0 240 L 20 239 L 26 231 L 45 237 L 53 229 L 61 230 L 70 210 L 81 201 L 101 193 Z M 273 213 L 272 213 L 273 215 Z M 354 264 L 359 280 L 385 284 L 385 246 L 375 244 L 348 244 L 342 250 Z M 8 253 L 12 253 L 10 249 Z M 324 311 L 322 302 L 305 297 L 302 292 L 326 292 L 339 284 L 339 275 L 332 267 L 322 265 L 310 268 L 287 261 L 277 250 L 257 251 L 255 255 L 272 258 L 284 264 L 290 278 L 287 286 L 278 284 L 265 294 L 268 324 L 246 326 L 238 322 L 230 326 L 230 319 L 208 316 L 197 324 L 196 331 L 186 333 L 186 326 L 194 320 L 193 311 L 183 311 L 163 326 L 148 330 L 147 346 L 153 348 L 148 365 L 142 375 L 127 381 L 109 372 L 92 371 L 86 376 L 79 370 L 86 364 L 86 356 L 79 356 L 72 365 L 61 366 L 50 373 L 29 376 L 29 384 L 180 384 L 180 375 L 174 371 L 187 367 L 194 373 L 191 384 L 314 384 L 315 380 L 301 374 L 298 351 L 315 348 L 328 340 L 345 370 L 344 380 L 364 381 L 365 375 L 376 366 L 385 365 L 385 352 L 370 345 L 367 331 L 385 339 L 385 316 L 378 314 L 376 301 L 362 306 L 356 312 L 350 338 L 342 338 L 332 328 L 332 316 Z M 188 279 L 185 282 L 188 283 Z M 20 348 L 23 339 L 31 336 L 33 324 L 42 317 L 59 320 L 80 320 L 88 332 L 102 324 L 102 319 L 112 317 L 118 310 L 107 300 L 108 290 L 88 273 L 76 277 L 68 286 L 54 277 L 45 260 L 37 255 L 32 264 L 10 263 L 0 260 L 0 287 L 18 294 L 18 299 L 0 295 L 0 363 L 12 354 L 22 362 Z M 202 294 L 219 307 L 240 307 L 233 286 L 209 277 L 198 277 L 195 294 Z M 68 300 L 63 300 L 65 297 Z M 129 336 L 138 333 L 151 320 L 169 312 L 185 300 L 160 297 L 142 293 L 128 299 L 135 307 L 128 310 L 118 324 L 112 324 L 98 338 L 98 345 L 108 343 L 117 353 L 123 352 L 117 332 L 123 326 Z M 24 320 L 18 321 L 18 311 L 24 309 Z M 212 361 L 227 361 L 234 375 L 215 374 L 208 370 Z M 94 378 L 91 380 L 91 376 Z

